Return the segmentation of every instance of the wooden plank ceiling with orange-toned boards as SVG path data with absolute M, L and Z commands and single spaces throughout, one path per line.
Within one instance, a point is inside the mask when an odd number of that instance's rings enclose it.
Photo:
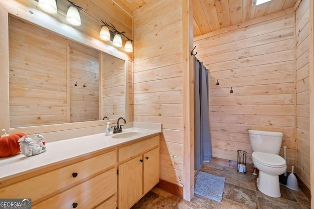
M 152 0 L 113 0 L 132 16 Z M 271 0 L 258 6 L 253 0 L 193 0 L 194 37 L 293 7 L 297 0 Z

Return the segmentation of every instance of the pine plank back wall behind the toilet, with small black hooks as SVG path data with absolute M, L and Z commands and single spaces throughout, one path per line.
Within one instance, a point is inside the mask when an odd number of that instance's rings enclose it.
M 294 18 L 266 16 L 262 23 L 194 38 L 197 57 L 210 71 L 213 157 L 236 161 L 236 150 L 246 150 L 253 163 L 247 130 L 279 131 L 288 167 L 295 165 Z

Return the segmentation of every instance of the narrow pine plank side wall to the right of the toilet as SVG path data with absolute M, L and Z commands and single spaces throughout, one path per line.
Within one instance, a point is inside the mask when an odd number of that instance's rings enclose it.
M 310 188 L 309 0 L 296 10 L 297 175 Z

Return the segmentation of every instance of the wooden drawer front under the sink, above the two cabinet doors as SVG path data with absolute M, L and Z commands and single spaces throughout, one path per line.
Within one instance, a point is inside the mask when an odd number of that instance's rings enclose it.
M 131 145 L 122 147 L 118 151 L 119 163 L 128 159 L 131 159 L 133 156 L 143 153 L 145 150 L 149 150 L 159 145 L 159 135 L 152 137 L 150 139 L 145 139 Z

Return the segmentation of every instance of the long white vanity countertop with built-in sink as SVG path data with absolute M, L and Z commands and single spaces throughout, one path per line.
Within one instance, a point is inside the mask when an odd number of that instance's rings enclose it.
M 127 132 L 140 132 L 142 135 L 140 137 L 113 139 L 111 138 L 112 136 L 119 134 L 112 134 L 112 132 L 110 132 L 110 136 L 105 136 L 105 133 L 94 134 L 46 143 L 47 151 L 39 155 L 26 157 L 25 155 L 18 154 L 7 158 L 2 158 L 0 159 L 0 182 L 12 177 L 20 176 L 38 169 L 42 169 L 44 167 L 51 166 L 53 164 L 73 160 L 79 156 L 161 133 L 161 124 L 160 129 L 132 127 L 124 129 L 122 133 Z

